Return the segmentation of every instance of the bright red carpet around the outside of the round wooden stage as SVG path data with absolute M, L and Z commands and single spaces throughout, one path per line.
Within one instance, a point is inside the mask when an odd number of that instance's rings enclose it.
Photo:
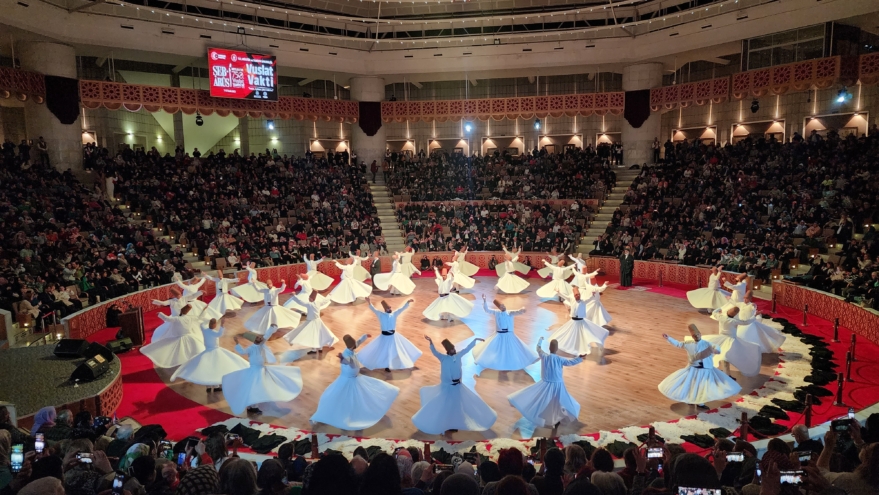
M 536 271 L 529 274 L 537 277 Z M 480 270 L 477 276 L 496 276 L 492 270 Z M 601 280 L 603 282 L 604 279 Z M 635 280 L 638 287 L 644 287 L 651 292 L 671 297 L 686 297 L 686 288 L 674 284 L 665 284 L 659 287 L 655 282 Z M 756 300 L 757 306 L 763 313 L 771 311 L 771 302 Z M 808 334 L 822 337 L 830 343 L 833 338 L 833 324 L 814 316 L 808 319 L 808 325 L 803 327 L 802 313 L 790 308 L 778 308 L 779 313 L 773 316 L 787 318 L 791 323 L 796 323 L 801 330 Z M 147 340 L 153 330 L 159 326 L 161 320 L 156 316 L 157 311 L 144 315 L 144 327 Z M 91 341 L 106 343 L 115 338 L 115 329 L 105 329 L 91 337 Z M 840 370 L 844 370 L 845 356 L 848 351 L 848 342 L 851 332 L 844 328 L 839 329 L 840 343 L 830 345 L 834 352 L 834 361 L 840 364 Z M 864 340 L 858 340 L 856 351 L 857 362 L 852 364 L 853 382 L 845 384 L 843 400 L 856 410 L 879 402 L 879 352 L 877 346 Z M 122 362 L 123 402 L 117 414 L 119 417 L 132 416 L 141 424 L 161 424 L 168 432 L 170 438 L 179 440 L 193 434 L 196 428 L 203 428 L 219 421 L 224 421 L 230 416 L 226 413 L 205 407 L 193 402 L 166 387 L 159 379 L 153 368 L 152 362 L 137 350 L 132 350 L 119 355 Z M 827 388 L 836 392 L 836 385 L 828 385 Z M 813 408 L 813 424 L 828 421 L 847 412 L 847 408 L 833 407 L 832 397 L 822 399 L 823 404 Z M 789 426 L 800 419 L 797 414 L 790 414 L 790 421 L 778 421 Z M 696 446 L 688 445 L 692 450 L 699 450 Z

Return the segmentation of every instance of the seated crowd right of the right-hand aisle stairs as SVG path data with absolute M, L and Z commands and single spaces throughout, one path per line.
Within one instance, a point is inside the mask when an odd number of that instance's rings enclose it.
M 638 259 L 722 264 L 763 281 L 814 263 L 795 281 L 876 307 L 877 161 L 879 129 L 671 146 L 641 170 L 593 254 L 629 246 Z

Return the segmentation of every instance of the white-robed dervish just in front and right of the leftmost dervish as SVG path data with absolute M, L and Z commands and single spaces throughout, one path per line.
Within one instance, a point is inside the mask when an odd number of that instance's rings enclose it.
M 247 361 L 238 354 L 220 347 L 220 337 L 225 329 L 216 319 L 201 324 L 204 351 L 196 355 L 171 375 L 171 381 L 180 378 L 196 385 L 220 389 L 223 376 L 248 367 Z

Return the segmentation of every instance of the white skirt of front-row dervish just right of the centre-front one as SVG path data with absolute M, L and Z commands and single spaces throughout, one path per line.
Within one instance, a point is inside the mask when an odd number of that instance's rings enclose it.
M 541 380 L 510 394 L 507 400 L 535 426 L 573 423 L 580 416 L 580 403 L 571 397 L 564 382 Z

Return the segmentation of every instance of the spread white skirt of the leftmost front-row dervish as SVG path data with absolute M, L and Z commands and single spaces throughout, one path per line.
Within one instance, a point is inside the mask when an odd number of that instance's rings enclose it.
M 264 402 L 288 402 L 302 392 L 302 372 L 295 366 L 249 366 L 223 375 L 223 395 L 233 414 Z

